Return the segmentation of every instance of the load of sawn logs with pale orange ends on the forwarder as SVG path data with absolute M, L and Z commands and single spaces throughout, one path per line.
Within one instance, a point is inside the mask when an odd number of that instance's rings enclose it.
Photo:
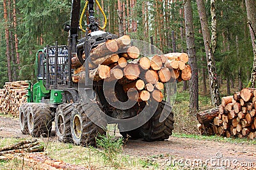
M 118 81 L 125 92 L 137 89 L 139 96 L 136 99 L 140 101 L 148 101 L 152 96 L 161 102 L 164 83 L 191 78 L 191 67 L 187 62 L 186 53 L 168 53 L 150 58 L 141 56 L 139 48 L 131 46 L 131 38 L 125 35 L 93 48 L 88 65 L 91 80 Z M 76 56 L 72 58 L 72 68 L 72 80 L 78 83 L 84 78 L 84 66 Z

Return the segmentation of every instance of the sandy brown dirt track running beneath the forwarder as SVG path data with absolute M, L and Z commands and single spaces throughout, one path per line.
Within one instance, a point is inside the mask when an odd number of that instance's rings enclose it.
M 54 134 L 51 138 L 54 138 Z M 0 117 L 0 138 L 28 138 L 20 132 L 19 121 L 15 118 Z M 237 160 L 239 163 L 252 163 L 256 167 L 256 146 L 243 143 L 221 143 L 191 138 L 170 137 L 168 141 L 144 142 L 130 140 L 124 147 L 124 152 L 136 157 L 155 157 L 168 162 L 172 159 L 194 160 L 216 159 Z M 159 155 L 163 155 L 162 158 Z M 173 161 L 173 160 L 172 160 Z

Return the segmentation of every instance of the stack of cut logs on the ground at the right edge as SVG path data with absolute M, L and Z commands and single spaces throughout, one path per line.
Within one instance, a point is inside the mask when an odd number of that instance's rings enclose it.
M 245 88 L 234 96 L 222 97 L 218 108 L 196 115 L 201 134 L 256 138 L 256 89 Z

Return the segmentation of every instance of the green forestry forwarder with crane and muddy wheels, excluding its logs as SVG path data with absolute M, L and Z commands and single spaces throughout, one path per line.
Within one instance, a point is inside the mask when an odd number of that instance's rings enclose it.
M 100 11 L 104 15 L 106 27 L 106 15 L 95 0 Z M 111 106 L 104 96 L 102 90 L 102 81 L 92 81 L 88 78 L 88 60 L 90 51 L 102 42 L 108 39 L 116 39 L 115 34 L 100 31 L 104 29 L 99 23 L 95 22 L 93 17 L 93 0 L 87 0 L 83 13 L 79 20 L 79 11 L 81 0 L 72 1 L 72 10 L 70 24 L 65 24 L 64 30 L 69 32 L 68 45 L 48 46 L 44 50 L 36 53 L 35 70 L 37 82 L 28 87 L 28 103 L 22 104 L 19 109 L 20 129 L 24 134 L 31 136 L 49 136 L 52 129 L 52 122 L 55 122 L 55 132 L 62 142 L 74 142 L 76 145 L 95 145 L 97 134 L 106 133 L 106 125 L 118 123 L 120 134 L 125 138 L 127 135 L 131 138 L 143 138 L 145 141 L 161 141 L 168 139 L 173 130 L 173 113 L 172 107 L 165 101 L 157 103 L 150 108 L 148 104 L 139 104 L 138 102 L 129 109 L 115 109 Z M 89 24 L 87 29 L 82 27 L 82 18 L 88 7 Z M 77 39 L 78 31 L 86 32 L 86 36 Z M 88 34 L 88 31 L 90 33 Z M 82 55 L 85 53 L 85 59 Z M 85 66 L 85 85 L 83 95 L 79 94 L 79 85 L 72 82 L 72 61 L 71 58 L 77 55 L 81 64 Z M 104 54 L 103 54 L 104 55 Z M 89 81 L 88 81 L 89 80 Z M 120 101 L 127 101 L 122 85 L 115 85 L 115 95 Z M 129 120 L 129 118 L 140 115 L 143 107 L 149 106 L 148 115 L 145 124 L 140 127 L 125 131 L 125 125 L 122 122 L 113 122 L 107 117 L 114 120 Z M 150 111 L 153 113 L 150 113 Z M 102 114 L 103 113 L 103 114 Z M 167 115 L 165 120 L 159 121 L 161 114 Z M 106 115 L 106 117 L 104 116 Z M 146 114 L 147 115 L 147 114 Z M 141 120 L 137 120 L 140 122 Z M 135 127 L 135 125 L 134 125 Z

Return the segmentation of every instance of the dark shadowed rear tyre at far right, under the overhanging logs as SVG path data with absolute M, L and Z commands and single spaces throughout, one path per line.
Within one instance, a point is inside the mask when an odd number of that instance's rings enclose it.
M 161 115 L 166 117 L 163 122 L 159 122 Z M 144 141 L 163 141 L 172 135 L 173 130 L 172 107 L 162 101 L 158 104 L 157 110 L 148 122 L 140 127 L 141 136 Z

